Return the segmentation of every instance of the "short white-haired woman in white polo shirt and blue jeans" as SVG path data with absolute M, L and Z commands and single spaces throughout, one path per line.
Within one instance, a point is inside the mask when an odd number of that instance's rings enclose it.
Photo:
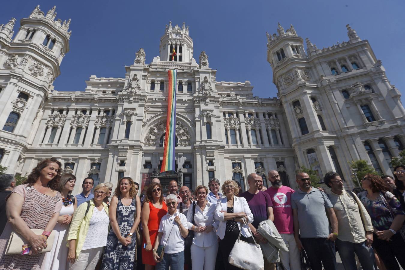
M 171 270 L 184 269 L 184 238 L 188 235 L 188 224 L 185 215 L 177 211 L 178 204 L 176 195 L 170 194 L 166 197 L 168 212 L 160 221 L 153 247 L 156 270 L 168 270 L 169 267 Z M 157 253 L 159 245 L 165 247 L 163 258 Z

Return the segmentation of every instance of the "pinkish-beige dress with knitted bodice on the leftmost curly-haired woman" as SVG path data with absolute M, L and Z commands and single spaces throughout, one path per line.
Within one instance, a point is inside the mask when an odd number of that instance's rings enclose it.
M 62 196 L 59 192 L 51 197 L 40 193 L 28 184 L 19 185 L 11 191 L 24 197 L 20 217 L 30 229 L 45 229 L 53 213 L 62 208 Z M 45 253 L 37 255 L 4 255 L 7 241 L 13 231 L 11 223 L 7 223 L 0 236 L 0 269 L 37 270 L 41 268 Z

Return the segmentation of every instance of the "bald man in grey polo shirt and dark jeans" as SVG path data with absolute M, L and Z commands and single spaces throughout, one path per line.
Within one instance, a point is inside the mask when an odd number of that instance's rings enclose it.
M 299 250 L 305 249 L 312 270 L 322 270 L 322 264 L 325 270 L 336 270 L 334 241 L 338 229 L 333 205 L 325 193 L 311 187 L 307 173 L 299 172 L 296 182 L 299 188 L 291 194 L 291 206 L 297 247 Z M 332 225 L 331 233 L 328 217 Z

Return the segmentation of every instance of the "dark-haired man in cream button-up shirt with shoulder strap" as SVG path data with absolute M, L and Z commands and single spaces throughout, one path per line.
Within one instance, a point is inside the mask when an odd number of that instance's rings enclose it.
M 356 194 L 343 190 L 343 181 L 336 172 L 327 172 L 324 183 L 331 188 L 329 199 L 333 204 L 339 236 L 336 246 L 345 269 L 357 269 L 354 253 L 363 269 L 374 268 L 373 225 L 366 208 Z

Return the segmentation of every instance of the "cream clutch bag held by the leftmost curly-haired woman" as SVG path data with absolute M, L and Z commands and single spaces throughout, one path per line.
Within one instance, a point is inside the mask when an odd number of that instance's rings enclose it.
M 44 230 L 41 229 L 31 229 L 31 231 L 36 235 L 41 235 L 44 232 Z M 52 231 L 47 240 L 47 247 L 41 250 L 40 253 L 51 251 L 54 239 L 55 231 Z M 28 242 L 28 240 L 21 234 L 12 232 L 9 238 L 9 242 L 7 242 L 5 255 L 21 254 L 21 250 L 23 248 L 23 245 L 25 244 L 30 244 L 30 242 Z

